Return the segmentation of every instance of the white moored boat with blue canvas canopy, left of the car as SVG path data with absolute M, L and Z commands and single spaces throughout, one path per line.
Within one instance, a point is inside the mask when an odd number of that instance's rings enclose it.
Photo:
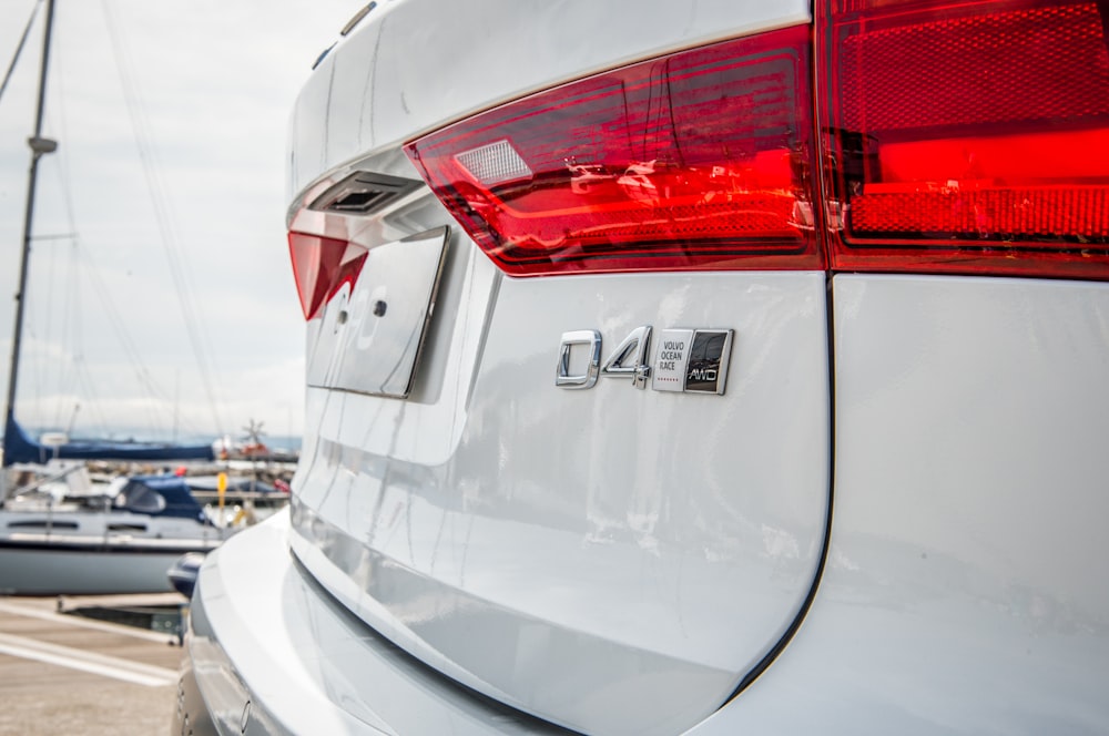
M 233 533 L 176 476 L 98 487 L 83 464 L 48 467 L 57 472 L 0 509 L 0 594 L 169 592 L 167 571 L 182 555 L 206 553 Z

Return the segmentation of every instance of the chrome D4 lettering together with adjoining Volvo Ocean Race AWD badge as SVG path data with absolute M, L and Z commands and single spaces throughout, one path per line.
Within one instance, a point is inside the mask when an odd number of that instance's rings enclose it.
M 731 329 L 663 329 L 652 362 L 651 326 L 633 329 L 601 366 L 601 334 L 580 329 L 562 334 L 554 385 L 592 388 L 597 377 L 630 378 L 635 388 L 676 393 L 722 395 L 732 352 Z

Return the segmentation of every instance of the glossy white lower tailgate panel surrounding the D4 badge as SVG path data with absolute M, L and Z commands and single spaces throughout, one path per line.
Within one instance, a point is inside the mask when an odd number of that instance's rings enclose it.
M 487 335 L 461 371 L 472 395 L 445 379 L 430 403 L 322 398 L 294 549 L 369 623 L 481 692 L 587 730 L 694 723 L 813 584 L 828 487 L 823 274 L 464 292 L 448 341 Z M 556 387 L 562 333 L 598 329 L 607 355 L 641 325 L 734 329 L 724 395 L 606 377 Z M 425 421 L 459 402 L 455 431 Z

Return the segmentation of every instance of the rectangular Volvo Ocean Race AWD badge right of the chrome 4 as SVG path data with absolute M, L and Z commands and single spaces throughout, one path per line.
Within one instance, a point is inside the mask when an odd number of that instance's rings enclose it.
M 662 329 L 654 348 L 651 388 L 655 391 L 723 393 L 730 329 Z

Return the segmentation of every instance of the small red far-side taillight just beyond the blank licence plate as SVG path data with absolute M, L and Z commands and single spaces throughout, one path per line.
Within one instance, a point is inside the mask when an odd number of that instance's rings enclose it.
M 366 248 L 296 232 L 288 234 L 288 253 L 305 319 L 318 316 L 344 284 L 354 284 L 366 260 Z

